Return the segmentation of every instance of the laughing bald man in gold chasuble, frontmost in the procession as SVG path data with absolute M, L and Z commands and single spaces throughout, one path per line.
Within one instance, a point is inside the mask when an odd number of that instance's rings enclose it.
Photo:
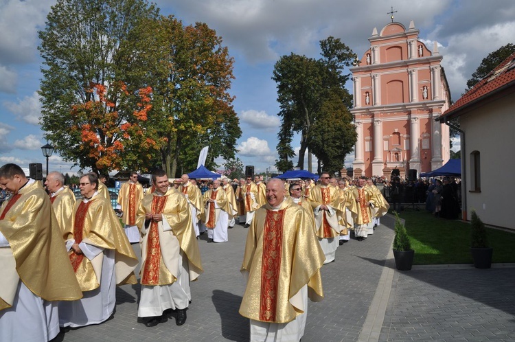
M 271 179 L 264 207 L 249 227 L 241 271 L 247 288 L 240 315 L 251 320 L 250 341 L 299 341 L 308 297 L 323 299 L 324 255 L 306 211 L 284 197 L 284 184 Z

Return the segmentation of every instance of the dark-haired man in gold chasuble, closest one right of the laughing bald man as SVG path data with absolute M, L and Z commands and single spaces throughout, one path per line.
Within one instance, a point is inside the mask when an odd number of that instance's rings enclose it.
M 315 230 L 325 254 L 324 264 L 333 262 L 339 245 L 340 226 L 338 216 L 342 215 L 340 190 L 330 185 L 328 173 L 322 173 L 320 184 L 315 185 L 309 196 L 314 213 Z

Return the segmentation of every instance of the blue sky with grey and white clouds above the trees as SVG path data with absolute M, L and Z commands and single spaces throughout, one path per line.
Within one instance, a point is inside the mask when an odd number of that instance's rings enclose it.
M 37 31 L 55 0 L 0 0 L 0 165 L 45 158 L 46 144 L 38 125 L 41 111 L 36 91 L 41 78 Z M 158 0 L 161 14 L 174 14 L 185 25 L 201 21 L 216 30 L 235 59 L 231 95 L 243 131 L 238 157 L 256 171 L 274 168 L 279 119 L 273 66 L 280 56 L 304 54 L 319 58 L 319 41 L 334 36 L 363 56 L 374 27 L 395 21 L 414 21 L 420 40 L 432 49 L 439 43 L 442 65 L 457 100 L 466 80 L 490 52 L 515 43 L 515 1 L 492 0 Z M 352 92 L 352 83 L 347 84 Z M 293 146 L 298 150 L 299 139 Z M 316 159 L 313 160 L 316 163 Z M 219 161 L 220 163 L 222 161 Z M 60 156 L 49 160 L 50 170 L 76 172 Z M 295 159 L 296 163 L 296 159 Z M 352 163 L 347 157 L 346 166 Z M 316 165 L 314 166 L 316 170 Z

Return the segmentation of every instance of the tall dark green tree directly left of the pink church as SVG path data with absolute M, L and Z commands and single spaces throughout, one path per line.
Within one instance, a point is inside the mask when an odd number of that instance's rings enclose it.
M 322 58 L 319 60 L 290 54 L 282 56 L 275 63 L 272 79 L 277 82 L 277 101 L 281 109 L 278 115 L 282 118 L 282 126 L 278 135 L 279 144 L 277 144 L 279 159 L 275 166 L 280 171 L 285 171 L 290 166 L 290 158 L 293 157 L 293 148 L 291 147 L 293 133 L 301 133 L 298 168 L 304 168 L 306 149 L 313 150 L 314 148 L 320 152 L 321 149 L 310 146 L 310 142 L 315 144 L 316 141 L 322 141 L 323 137 L 312 137 L 311 130 L 328 99 L 332 99 L 332 102 L 334 96 L 339 96 L 339 101 L 347 108 L 352 106 L 352 97 L 345 89 L 345 82 L 350 75 L 344 74 L 343 69 L 349 67 L 356 60 L 356 54 L 340 39 L 332 36 L 321 41 L 320 47 Z M 346 124 L 350 124 L 352 120 L 352 117 L 345 115 L 341 118 L 349 119 Z M 333 122 L 325 124 L 333 124 Z M 319 127 L 316 134 L 322 133 L 323 130 Z M 344 134 L 344 130 L 339 131 L 341 139 Z M 354 143 L 350 146 L 353 145 Z M 321 154 L 319 153 L 317 157 L 321 158 Z M 325 164 L 328 163 L 329 161 L 325 160 Z M 308 154 L 308 170 L 311 169 L 311 164 L 310 154 Z M 343 163 L 341 166 L 343 167 Z

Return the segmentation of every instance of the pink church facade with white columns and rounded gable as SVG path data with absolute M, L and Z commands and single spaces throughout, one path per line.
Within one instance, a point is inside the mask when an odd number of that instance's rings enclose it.
M 393 19 L 392 19 L 393 21 Z M 437 121 L 450 105 L 450 92 L 437 43 L 431 52 L 408 30 L 392 22 L 368 39 L 368 49 L 352 67 L 354 176 L 385 176 L 398 169 L 430 172 L 449 159 L 449 128 Z M 413 171 L 411 172 L 413 174 Z

